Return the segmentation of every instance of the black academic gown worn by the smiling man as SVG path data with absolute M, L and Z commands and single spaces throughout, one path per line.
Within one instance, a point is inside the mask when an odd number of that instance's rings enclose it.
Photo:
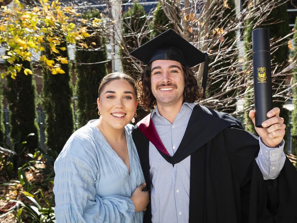
M 138 128 L 132 132 L 143 174 L 151 187 L 149 140 Z M 191 155 L 189 222 L 296 223 L 297 172 L 288 158 L 275 180 L 263 180 L 255 158 L 259 139 L 243 130 L 228 114 L 196 105 L 173 165 Z M 151 204 L 144 215 L 151 222 Z

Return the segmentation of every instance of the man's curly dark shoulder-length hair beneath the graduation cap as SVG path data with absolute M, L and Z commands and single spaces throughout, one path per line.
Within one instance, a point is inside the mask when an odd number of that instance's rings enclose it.
M 197 80 L 194 76 L 194 72 L 190 67 L 185 67 L 181 64 L 184 73 L 184 101 L 193 103 L 202 98 L 203 88 L 198 86 Z M 157 105 L 156 98 L 151 92 L 151 64 L 149 64 L 143 72 L 140 74 L 140 78 L 137 81 L 138 87 L 138 103 L 143 107 L 145 111 L 154 109 Z

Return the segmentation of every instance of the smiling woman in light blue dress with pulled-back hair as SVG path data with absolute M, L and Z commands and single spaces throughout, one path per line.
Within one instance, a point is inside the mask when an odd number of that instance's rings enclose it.
M 149 194 L 128 124 L 136 95 L 126 74 L 102 79 L 100 118 L 70 136 L 54 165 L 57 223 L 142 222 Z

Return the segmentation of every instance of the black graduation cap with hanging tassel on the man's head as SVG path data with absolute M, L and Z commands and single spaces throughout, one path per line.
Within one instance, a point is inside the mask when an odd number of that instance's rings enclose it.
M 132 51 L 130 55 L 147 65 L 154 60 L 175 60 L 188 67 L 194 67 L 205 62 L 202 79 L 204 99 L 208 75 L 208 54 L 202 53 L 172 29 L 168 29 L 154 39 L 138 47 Z

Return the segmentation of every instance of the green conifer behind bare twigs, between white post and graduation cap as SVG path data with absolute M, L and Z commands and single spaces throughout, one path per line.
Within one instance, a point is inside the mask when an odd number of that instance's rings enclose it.
M 141 33 L 141 29 L 145 25 L 146 19 L 147 16 L 143 6 L 137 2 L 134 2 L 132 9 L 129 9 L 127 12 L 124 13 L 122 20 L 122 45 L 125 45 L 128 52 L 133 51 L 135 48 L 138 48 L 140 45 L 143 45 L 144 43 L 149 41 L 149 39 L 146 37 L 139 38 L 138 35 L 136 35 Z M 134 78 L 137 78 L 137 73 L 135 72 L 135 69 L 131 66 L 130 57 L 124 58 L 128 55 L 127 52 L 124 51 L 124 46 L 122 45 L 120 45 L 119 54 L 121 55 L 121 57 L 123 57 L 123 59 L 121 59 L 123 70 L 127 71 Z

